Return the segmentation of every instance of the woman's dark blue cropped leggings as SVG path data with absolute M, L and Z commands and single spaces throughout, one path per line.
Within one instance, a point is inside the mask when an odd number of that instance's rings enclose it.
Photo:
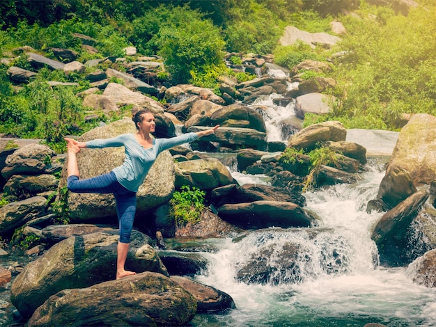
M 79 180 L 79 177 L 73 175 L 67 179 L 67 188 L 75 193 L 113 193 L 116 200 L 120 242 L 130 243 L 134 214 L 137 211 L 137 193 L 118 183 L 115 173 L 110 172 L 85 180 Z

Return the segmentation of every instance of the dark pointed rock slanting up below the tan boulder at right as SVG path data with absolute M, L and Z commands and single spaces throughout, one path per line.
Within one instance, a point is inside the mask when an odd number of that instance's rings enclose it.
M 377 245 L 380 264 L 383 266 L 404 266 L 415 257 L 407 253 L 407 229 L 416 218 L 421 207 L 428 199 L 428 192 L 418 191 L 400 202 L 380 218 L 371 234 L 371 239 Z

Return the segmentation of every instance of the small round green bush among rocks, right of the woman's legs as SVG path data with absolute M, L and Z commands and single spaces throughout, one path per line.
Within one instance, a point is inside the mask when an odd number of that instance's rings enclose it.
M 186 223 L 197 223 L 201 220 L 201 213 L 204 205 L 205 192 L 196 188 L 184 185 L 180 191 L 173 193 L 170 200 L 170 214 L 180 226 Z

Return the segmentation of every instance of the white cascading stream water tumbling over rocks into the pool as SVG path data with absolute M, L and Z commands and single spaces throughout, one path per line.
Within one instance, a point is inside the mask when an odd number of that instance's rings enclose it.
M 269 138 L 273 120 L 293 114 L 270 110 L 272 97 L 262 102 L 270 111 Z M 371 231 L 382 214 L 368 214 L 366 204 L 377 195 L 384 168 L 377 158 L 366 168 L 355 184 L 304 193 L 319 227 L 251 231 L 204 253 L 210 265 L 196 280 L 230 294 L 236 309 L 197 314 L 189 326 L 436 326 L 435 290 L 412 282 L 406 267 L 378 266 Z M 240 184 L 267 184 L 263 176 L 229 169 Z

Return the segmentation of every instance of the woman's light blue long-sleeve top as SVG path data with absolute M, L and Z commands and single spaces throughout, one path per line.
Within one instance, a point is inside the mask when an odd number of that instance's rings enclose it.
M 146 179 L 148 171 L 155 163 L 157 155 L 169 148 L 189 143 L 198 138 L 194 132 L 182 134 L 173 138 L 153 138 L 153 146 L 144 149 L 134 134 L 121 134 L 114 138 L 98 139 L 86 142 L 86 147 L 125 147 L 125 160 L 123 165 L 114 168 L 118 182 L 126 189 L 137 192 L 139 186 Z

